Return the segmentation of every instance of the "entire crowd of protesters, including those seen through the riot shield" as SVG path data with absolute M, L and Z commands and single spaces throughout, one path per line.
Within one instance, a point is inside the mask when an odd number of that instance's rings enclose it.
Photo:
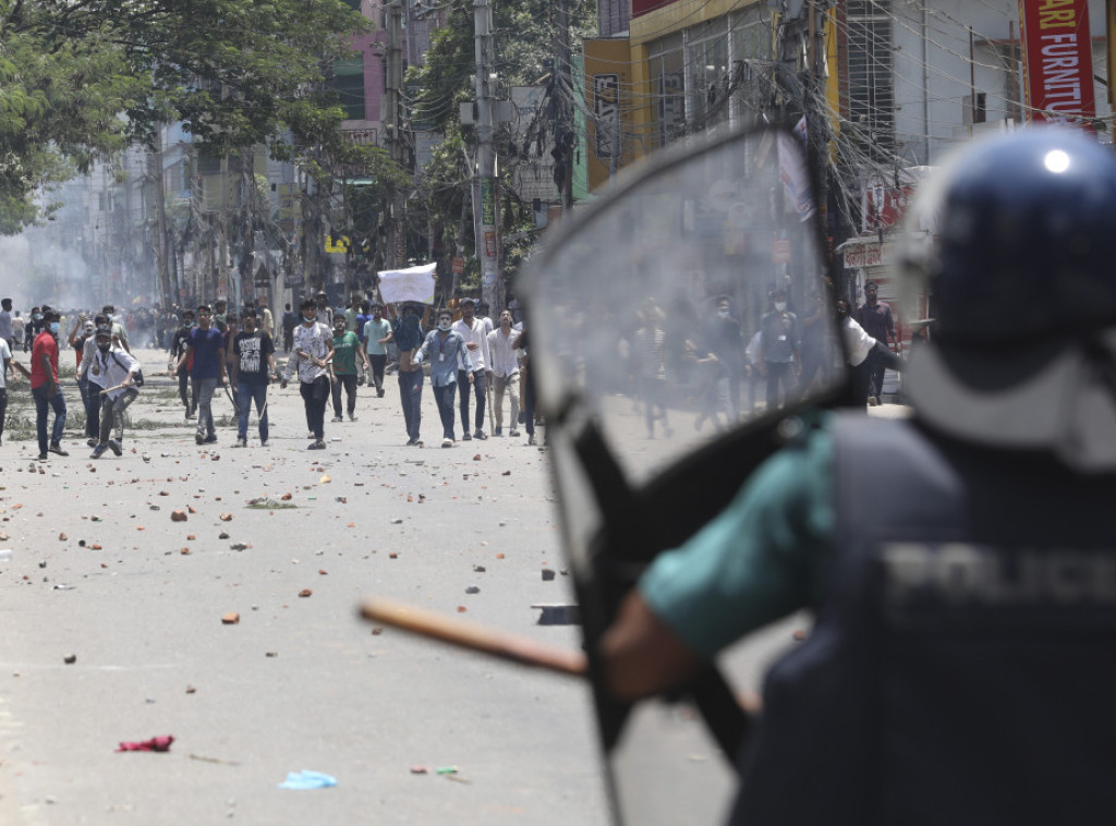
M 607 346 L 616 356 L 619 378 L 602 381 L 618 382 L 608 390 L 633 397 L 648 438 L 673 435 L 672 409 L 675 415 L 693 414 L 696 430 L 706 425 L 724 430 L 757 409 L 786 405 L 812 383 L 827 381 L 827 371 L 839 358 L 833 346 L 839 332 L 857 401 L 878 403 L 884 369 L 897 368 L 899 362 L 892 352 L 898 346 L 892 311 L 878 300 L 876 285 L 866 285 L 865 301 L 855 309 L 838 302 L 836 319 L 826 316 L 831 305 L 817 291 L 800 304 L 793 306 L 788 290 L 779 286 L 768 292 L 764 307 L 748 314 L 728 295 L 702 302 L 677 297 L 667 306 L 645 298 L 631 311 L 609 314 Z M 750 321 L 741 320 L 745 317 Z M 248 305 L 238 310 L 224 299 L 193 308 L 108 305 L 100 311 L 65 313 L 47 305 L 25 313 L 3 299 L 0 339 L 6 377 L 23 369 L 15 353 L 31 353 L 30 369 L 25 372 L 36 401 L 40 459 L 65 454 L 59 350 L 74 353 L 86 436 L 97 458 L 105 450 L 116 451 L 123 441 L 124 411 L 141 386 L 136 373 L 142 382 L 138 362 L 131 355 L 134 347 L 166 350 L 184 416 L 196 422 L 198 444 L 218 439 L 213 400 L 220 388 L 228 388 L 235 411 L 235 446 L 248 444 L 253 407 L 259 441 L 267 444 L 268 386 L 279 382 L 286 387 L 297 381 L 309 448 L 321 450 L 328 409 L 333 409 L 330 423 L 356 421 L 357 388 L 367 385 L 382 398 L 389 375 L 398 384 L 408 445 L 423 444 L 421 403 L 427 381 L 442 446 L 452 448 L 459 439 L 519 438 L 521 426 L 527 442 L 535 443 L 528 336 L 513 297 L 494 319 L 485 302 L 460 291 L 437 309 L 411 302 L 385 306 L 359 296 L 330 306 L 327 295 L 318 292 L 297 310 L 286 305 L 278 319 L 268 308 Z M 100 352 L 107 355 L 98 362 Z M 279 354 L 287 357 L 281 376 Z M 600 364 L 581 361 L 581 381 L 591 381 Z M 0 392 L 2 439 L 7 386 Z M 55 423 L 48 433 L 51 410 Z

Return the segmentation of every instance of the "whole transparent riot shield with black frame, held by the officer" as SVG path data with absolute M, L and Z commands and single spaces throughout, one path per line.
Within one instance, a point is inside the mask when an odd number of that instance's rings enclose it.
M 721 672 L 682 709 L 723 761 L 689 762 L 679 705 L 633 709 L 594 651 L 661 550 L 723 508 L 847 383 L 805 153 L 790 133 L 665 153 L 549 240 L 525 273 L 528 375 L 546 420 L 616 819 L 713 823 L 749 721 Z

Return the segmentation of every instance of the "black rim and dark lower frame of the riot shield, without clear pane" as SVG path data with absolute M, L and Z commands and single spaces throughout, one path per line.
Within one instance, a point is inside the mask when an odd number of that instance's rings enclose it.
M 698 146 L 690 143 L 665 150 L 634 170 L 633 174 L 622 176 L 599 201 L 561 227 L 530 260 L 522 289 L 527 298 L 525 310 L 528 328 L 535 328 L 536 314 L 545 310 L 538 306 L 537 300 L 532 300 L 541 294 L 540 279 L 545 279 L 554 269 L 554 260 L 561 253 L 564 244 L 586 231 L 603 213 L 628 198 L 646 181 L 692 162 L 699 155 L 723 150 L 733 142 L 744 142 L 761 134 L 770 134 L 775 138 L 780 131 L 790 134 L 788 129 L 779 127 L 743 128 Z M 818 192 L 818 171 L 808 160 L 806 165 L 810 185 Z M 825 265 L 826 275 L 836 285 L 836 265 L 833 257 L 825 253 L 827 247 L 818 220 L 811 222 L 810 234 L 819 251 L 819 259 Z M 834 311 L 835 299 L 835 295 L 824 297 L 830 313 Z M 545 342 L 537 339 L 531 344 L 535 349 L 546 347 Z M 845 359 L 847 354 L 839 335 L 836 344 L 841 359 Z M 537 368 L 533 362 L 532 356 L 531 369 Z M 564 550 L 580 608 L 588 675 L 608 775 L 608 796 L 617 823 L 623 822 L 623 813 L 619 810 L 615 778 L 608 769 L 608 756 L 618 742 L 633 704 L 615 700 L 605 686 L 597 655 L 602 635 L 615 620 L 624 596 L 658 554 L 677 547 L 720 512 L 766 459 L 788 439 L 799 434 L 799 416 L 805 411 L 845 406 L 850 398 L 850 374 L 846 371 L 844 381 L 826 392 L 739 425 L 696 452 L 681 458 L 639 487 L 633 486 L 625 478 L 604 432 L 575 388 L 565 387 L 557 395 L 539 393 L 538 403 L 546 416 L 548 442 L 552 452 L 551 472 L 562 501 L 559 511 Z M 730 467 L 734 470 L 734 478 L 727 483 L 724 469 Z M 575 548 L 571 545 L 578 541 L 575 537 L 579 532 L 579 515 L 571 510 L 565 501 L 566 497 L 561 496 L 564 488 L 568 490 L 567 486 L 571 484 L 591 489 L 602 517 L 599 529 L 587 540 L 587 548 Z M 705 666 L 693 681 L 681 686 L 672 697 L 693 701 L 724 758 L 738 767 L 737 758 L 751 721 L 716 666 Z

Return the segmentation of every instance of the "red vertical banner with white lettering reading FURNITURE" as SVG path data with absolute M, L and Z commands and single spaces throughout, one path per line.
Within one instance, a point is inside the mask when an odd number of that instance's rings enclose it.
M 1031 121 L 1091 121 L 1093 47 L 1087 0 L 1019 0 Z

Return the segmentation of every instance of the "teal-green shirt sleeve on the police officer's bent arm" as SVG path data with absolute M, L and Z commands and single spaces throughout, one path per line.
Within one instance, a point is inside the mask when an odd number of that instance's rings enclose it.
M 811 430 L 639 582 L 651 611 L 698 654 L 817 605 L 834 525 L 833 440 Z

